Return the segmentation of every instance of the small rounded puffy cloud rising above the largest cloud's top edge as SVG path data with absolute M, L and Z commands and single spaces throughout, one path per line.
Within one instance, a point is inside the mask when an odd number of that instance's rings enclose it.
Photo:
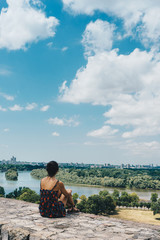
M 82 39 L 85 54 L 89 56 L 93 53 L 111 50 L 114 29 L 115 26 L 107 21 L 98 19 L 95 22 L 90 22 L 83 33 Z

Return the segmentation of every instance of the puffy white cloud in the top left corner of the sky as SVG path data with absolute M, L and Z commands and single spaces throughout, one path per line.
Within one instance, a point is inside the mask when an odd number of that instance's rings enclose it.
M 53 37 L 58 20 L 46 17 L 40 1 L 6 0 L 0 13 L 0 48 L 26 49 L 28 44 Z

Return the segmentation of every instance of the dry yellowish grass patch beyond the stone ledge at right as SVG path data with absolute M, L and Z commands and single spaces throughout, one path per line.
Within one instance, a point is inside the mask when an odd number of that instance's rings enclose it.
M 112 217 L 160 226 L 160 214 L 153 215 L 152 211 L 139 209 L 118 209 L 117 214 L 112 215 Z

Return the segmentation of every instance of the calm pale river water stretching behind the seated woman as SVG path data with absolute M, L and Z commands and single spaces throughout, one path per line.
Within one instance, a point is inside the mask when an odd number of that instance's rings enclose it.
M 0 186 L 4 187 L 5 193 L 8 194 L 19 187 L 29 187 L 30 189 L 39 193 L 40 180 L 33 178 L 30 175 L 30 171 L 18 172 L 18 181 L 8 181 L 5 178 L 5 173 L 0 172 Z M 66 188 L 72 189 L 73 193 L 78 193 L 79 196 L 85 195 L 86 197 L 98 194 L 101 190 L 108 190 L 110 193 L 114 191 L 114 189 L 121 191 L 126 191 L 128 193 L 136 192 L 140 199 L 149 200 L 151 197 L 151 193 L 157 192 L 160 197 L 160 190 L 131 190 L 131 189 L 120 189 L 120 188 L 110 188 L 110 187 L 95 187 L 95 186 L 80 186 L 65 184 Z

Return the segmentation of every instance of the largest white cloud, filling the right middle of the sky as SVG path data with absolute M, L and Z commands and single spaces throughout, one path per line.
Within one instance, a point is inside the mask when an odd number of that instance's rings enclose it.
M 154 51 L 135 49 L 128 55 L 116 49 L 88 57 L 59 100 L 74 104 L 110 106 L 106 124 L 122 128 L 122 138 L 160 134 L 160 59 Z M 103 129 L 103 128 L 102 128 Z M 102 130 L 101 129 L 101 130 Z M 104 130 L 104 129 L 103 129 Z M 102 134 L 97 130 L 94 134 Z

